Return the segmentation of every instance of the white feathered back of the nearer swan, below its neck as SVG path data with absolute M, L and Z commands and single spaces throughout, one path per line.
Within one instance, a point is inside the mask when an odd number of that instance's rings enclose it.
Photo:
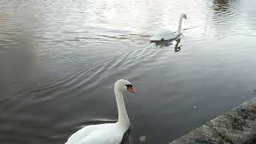
M 72 134 L 65 144 L 118 144 L 122 136 L 115 123 L 90 125 Z

